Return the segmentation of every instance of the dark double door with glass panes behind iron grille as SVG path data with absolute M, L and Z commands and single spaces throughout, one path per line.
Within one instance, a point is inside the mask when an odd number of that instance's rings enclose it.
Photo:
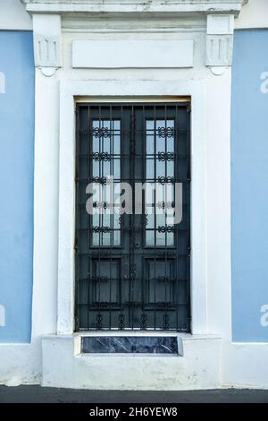
M 188 104 L 78 106 L 77 330 L 189 331 L 189 143 Z

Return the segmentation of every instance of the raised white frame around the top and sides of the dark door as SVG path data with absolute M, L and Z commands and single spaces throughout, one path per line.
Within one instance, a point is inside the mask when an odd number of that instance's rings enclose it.
M 205 253 L 205 83 L 200 81 L 60 82 L 57 333 L 75 330 L 76 102 L 191 101 L 191 333 L 207 332 Z

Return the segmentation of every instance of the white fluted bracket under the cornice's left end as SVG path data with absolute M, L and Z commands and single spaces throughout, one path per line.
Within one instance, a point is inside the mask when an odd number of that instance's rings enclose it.
M 35 65 L 50 76 L 62 65 L 61 16 L 34 14 L 33 30 Z

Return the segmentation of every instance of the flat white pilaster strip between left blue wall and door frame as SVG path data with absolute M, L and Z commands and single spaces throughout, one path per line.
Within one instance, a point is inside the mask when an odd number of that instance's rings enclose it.
M 46 78 L 39 69 L 36 72 L 32 339 L 56 331 L 59 153 L 57 75 Z

